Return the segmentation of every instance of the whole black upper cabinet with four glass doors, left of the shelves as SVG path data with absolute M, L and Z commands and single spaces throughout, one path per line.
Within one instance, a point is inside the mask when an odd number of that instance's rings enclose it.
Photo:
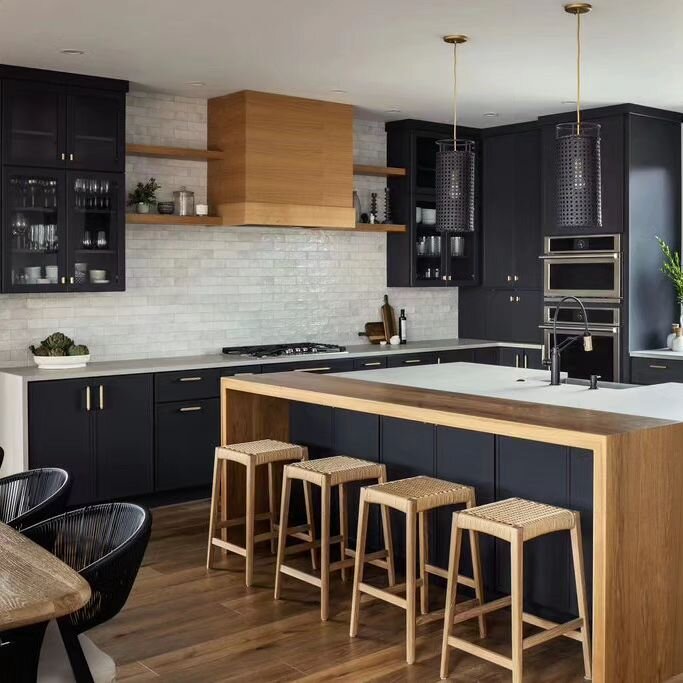
M 1 291 L 125 289 L 128 83 L 0 66 Z

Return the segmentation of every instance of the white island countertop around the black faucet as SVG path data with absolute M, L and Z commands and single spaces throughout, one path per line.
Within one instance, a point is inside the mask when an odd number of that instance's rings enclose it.
M 592 391 L 574 384 L 551 387 L 550 373 L 547 370 L 524 370 L 476 363 L 362 370 L 337 376 L 350 380 L 683 422 L 683 384 L 675 382 L 627 389 L 601 387 Z M 563 378 L 566 378 L 566 373 L 563 373 Z

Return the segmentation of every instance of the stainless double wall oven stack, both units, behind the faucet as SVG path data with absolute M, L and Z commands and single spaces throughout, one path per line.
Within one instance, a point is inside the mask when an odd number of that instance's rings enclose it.
M 586 307 L 593 351 L 581 344 L 562 352 L 562 369 L 570 377 L 621 380 L 622 251 L 620 235 L 553 236 L 544 240 L 543 330 L 544 357 L 553 346 L 553 317 L 557 303 L 565 296 L 580 298 Z M 583 312 L 566 301 L 557 319 L 557 343 L 582 334 Z

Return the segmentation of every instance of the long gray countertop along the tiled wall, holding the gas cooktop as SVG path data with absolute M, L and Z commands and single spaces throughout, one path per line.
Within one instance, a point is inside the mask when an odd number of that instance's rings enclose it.
M 270 365 L 277 363 L 320 362 L 321 358 L 333 360 L 361 358 L 364 356 L 391 356 L 406 353 L 429 353 L 430 351 L 456 351 L 513 347 L 540 349 L 540 344 L 515 344 L 488 341 L 485 339 L 438 339 L 415 341 L 400 346 L 380 346 L 379 344 L 356 344 L 347 346 L 341 353 L 311 354 L 306 356 L 287 356 L 286 358 L 251 358 L 247 356 L 226 356 L 222 353 L 203 356 L 173 356 L 169 358 L 139 358 L 133 360 L 95 361 L 84 368 L 73 370 L 41 370 L 35 365 L 27 367 L 0 368 L 0 373 L 21 377 L 24 381 L 43 381 L 50 379 L 77 379 L 79 377 L 99 377 L 106 375 L 133 375 L 140 373 L 173 372 L 182 370 L 201 370 L 204 368 L 234 368 L 245 365 Z

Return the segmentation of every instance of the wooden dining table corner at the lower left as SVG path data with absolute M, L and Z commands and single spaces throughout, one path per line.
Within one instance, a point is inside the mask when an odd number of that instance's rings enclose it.
M 0 632 L 62 617 L 89 599 L 78 572 L 0 522 Z

